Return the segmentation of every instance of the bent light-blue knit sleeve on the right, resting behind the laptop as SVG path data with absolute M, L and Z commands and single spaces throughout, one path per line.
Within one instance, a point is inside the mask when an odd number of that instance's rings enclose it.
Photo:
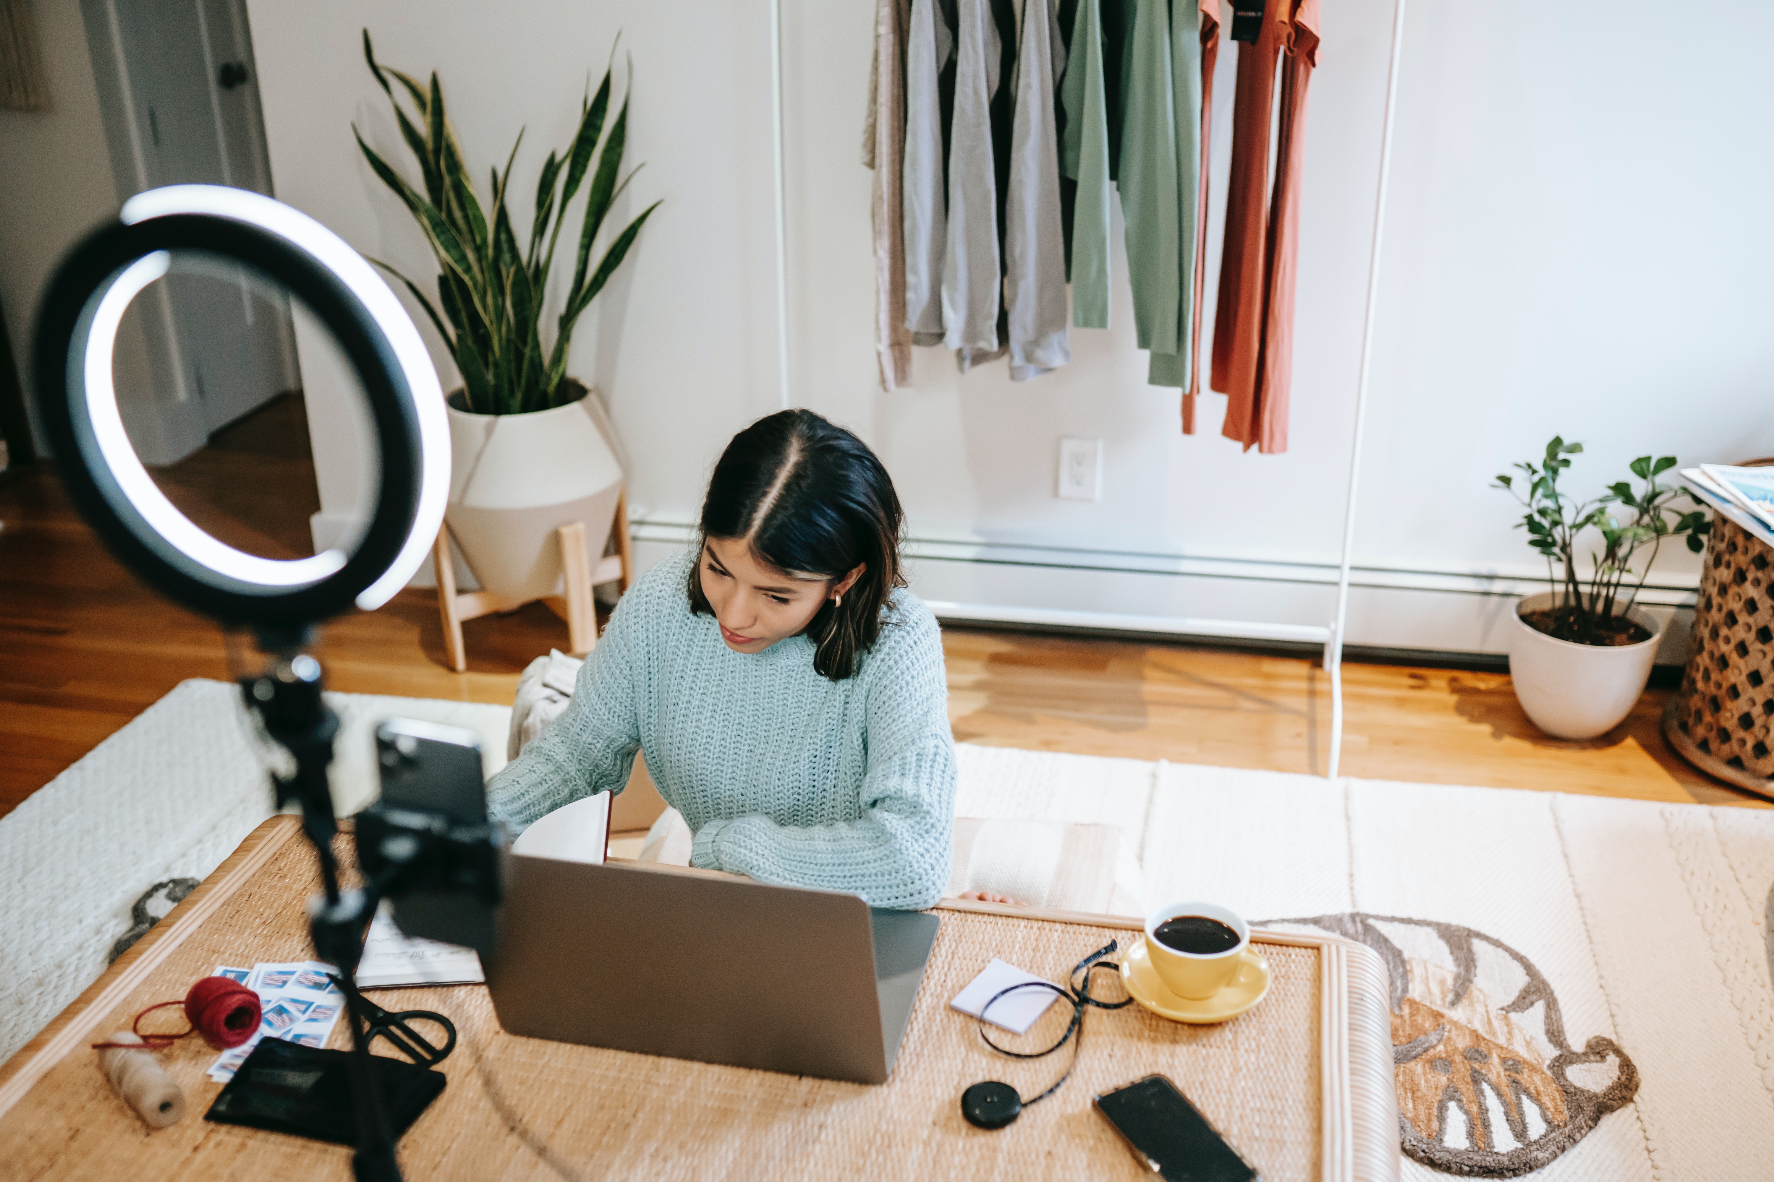
M 857 820 L 786 826 L 750 813 L 711 820 L 690 863 L 759 883 L 852 891 L 875 907 L 917 911 L 942 898 L 954 842 L 954 737 L 942 638 L 928 611 L 867 670 L 867 773 Z

